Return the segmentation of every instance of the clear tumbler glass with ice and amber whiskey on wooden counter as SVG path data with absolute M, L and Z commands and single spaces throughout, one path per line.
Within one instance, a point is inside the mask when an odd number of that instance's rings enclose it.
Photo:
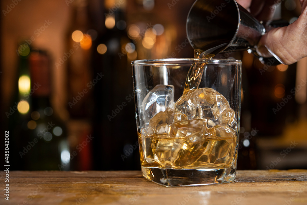
M 164 186 L 233 182 L 241 61 L 157 59 L 131 64 L 143 176 Z M 199 68 L 195 78 L 200 83 L 187 89 L 193 66 Z

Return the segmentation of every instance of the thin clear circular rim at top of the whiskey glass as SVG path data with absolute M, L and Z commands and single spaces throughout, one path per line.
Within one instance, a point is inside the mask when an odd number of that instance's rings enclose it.
M 198 58 L 162 58 L 134 60 L 131 65 L 170 65 L 170 64 L 191 64 L 192 62 L 204 62 L 213 64 L 239 64 L 241 60 L 235 59 L 198 59 Z

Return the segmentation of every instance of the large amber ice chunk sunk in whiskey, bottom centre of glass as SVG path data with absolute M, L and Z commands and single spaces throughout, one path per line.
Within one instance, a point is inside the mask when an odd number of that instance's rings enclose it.
M 163 167 L 186 167 L 197 161 L 206 149 L 203 144 L 205 120 L 185 120 L 174 122 L 168 137 L 156 138 L 154 160 Z M 205 133 L 205 134 L 204 134 Z

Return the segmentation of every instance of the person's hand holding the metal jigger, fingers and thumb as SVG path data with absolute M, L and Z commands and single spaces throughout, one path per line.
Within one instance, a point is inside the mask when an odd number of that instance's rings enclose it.
M 258 20 L 268 21 L 274 14 L 276 0 L 236 0 Z M 274 28 L 263 35 L 257 52 L 276 57 L 283 64 L 293 64 L 307 56 L 307 0 L 300 0 L 301 15 L 292 24 Z

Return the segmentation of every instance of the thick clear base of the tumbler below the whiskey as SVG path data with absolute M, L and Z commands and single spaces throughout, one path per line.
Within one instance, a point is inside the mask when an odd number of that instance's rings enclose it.
M 142 167 L 142 174 L 146 179 L 166 187 L 231 183 L 235 180 L 235 171 L 233 166 L 218 169 Z

